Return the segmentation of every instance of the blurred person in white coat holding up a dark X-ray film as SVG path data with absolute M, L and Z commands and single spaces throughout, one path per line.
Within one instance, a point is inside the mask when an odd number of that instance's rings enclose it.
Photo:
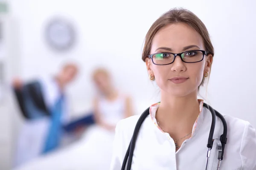
M 26 119 L 17 141 L 15 165 L 59 147 L 62 125 L 70 119 L 65 88 L 77 73 L 78 67 L 67 63 L 54 77 L 28 83 L 20 79 L 13 81 L 18 105 Z

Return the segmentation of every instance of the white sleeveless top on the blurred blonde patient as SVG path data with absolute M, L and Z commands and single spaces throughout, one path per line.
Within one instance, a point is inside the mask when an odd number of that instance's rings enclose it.
M 117 122 L 125 118 L 125 96 L 119 95 L 113 101 L 100 97 L 98 109 L 102 119 L 106 123 L 115 126 Z

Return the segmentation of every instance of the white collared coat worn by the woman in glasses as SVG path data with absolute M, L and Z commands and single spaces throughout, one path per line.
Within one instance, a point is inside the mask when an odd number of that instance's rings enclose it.
M 179 150 L 175 151 L 175 142 L 168 133 L 157 126 L 155 113 L 159 104 L 150 108 L 148 116 L 140 128 L 137 137 L 132 170 L 205 170 L 207 141 L 212 122 L 212 114 L 203 108 L 200 101 L 200 114 L 196 120 L 192 137 L 186 139 Z M 111 170 L 120 170 L 126 150 L 131 141 L 139 115 L 121 120 L 116 126 Z M 249 122 L 224 116 L 228 132 L 224 159 L 221 170 L 256 170 L 256 131 Z M 221 120 L 216 117 L 213 139 L 223 133 Z M 218 164 L 216 142 L 211 150 L 209 170 L 215 170 Z

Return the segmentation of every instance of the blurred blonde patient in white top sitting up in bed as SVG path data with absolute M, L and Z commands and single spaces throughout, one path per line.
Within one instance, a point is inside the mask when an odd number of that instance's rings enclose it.
M 132 116 L 131 99 L 116 90 L 105 68 L 93 72 L 93 82 L 98 90 L 94 99 L 96 124 L 114 130 L 119 120 Z

